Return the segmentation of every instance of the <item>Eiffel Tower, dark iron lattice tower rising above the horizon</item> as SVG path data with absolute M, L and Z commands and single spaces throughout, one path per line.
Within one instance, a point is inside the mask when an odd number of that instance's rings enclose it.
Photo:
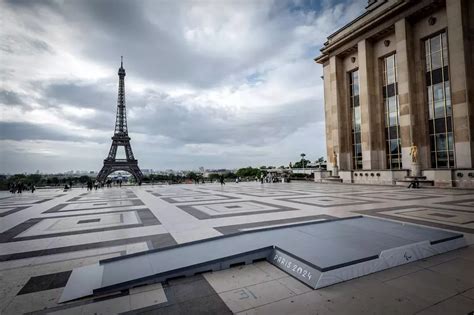
M 104 160 L 104 166 L 97 175 L 97 181 L 104 182 L 111 173 L 115 171 L 126 171 L 135 177 L 138 184 L 141 184 L 143 174 L 138 167 L 138 160 L 133 156 L 130 146 L 130 137 L 127 129 L 127 112 L 125 108 L 125 69 L 123 68 L 123 57 L 121 57 L 119 76 L 119 91 L 117 99 L 117 118 L 115 120 L 115 132 L 112 137 L 112 146 L 109 156 Z M 117 148 L 125 148 L 125 159 L 117 159 Z

